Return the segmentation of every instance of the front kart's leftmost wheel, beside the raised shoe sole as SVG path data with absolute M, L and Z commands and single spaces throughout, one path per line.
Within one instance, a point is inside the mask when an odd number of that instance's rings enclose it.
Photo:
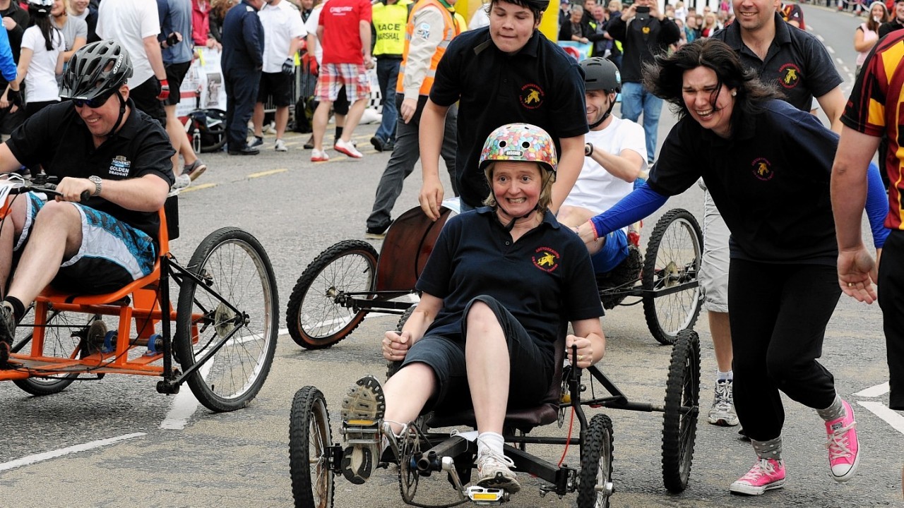
M 332 439 L 324 394 L 313 386 L 298 390 L 288 422 L 289 474 L 296 508 L 333 506 L 334 474 L 325 455 Z

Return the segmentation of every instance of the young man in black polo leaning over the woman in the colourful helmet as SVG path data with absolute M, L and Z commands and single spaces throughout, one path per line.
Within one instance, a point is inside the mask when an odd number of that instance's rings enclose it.
M 458 102 L 455 176 L 462 209 L 480 206 L 489 191 L 477 167 L 494 128 L 530 123 L 549 132 L 559 155 L 551 209 L 559 211 L 583 160 L 584 80 L 576 61 L 537 30 L 548 0 L 493 0 L 490 25 L 458 35 L 439 61 L 420 119 L 423 184 L 420 206 L 439 214 L 443 185 L 439 152 L 448 109 Z

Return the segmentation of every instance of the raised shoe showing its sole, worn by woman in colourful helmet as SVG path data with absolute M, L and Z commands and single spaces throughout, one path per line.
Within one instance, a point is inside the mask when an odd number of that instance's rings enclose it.
M 377 378 L 367 375 L 348 390 L 342 401 L 342 431 L 349 445 L 343 452 L 345 479 L 363 484 L 380 461 L 381 424 L 386 410 L 383 388 Z

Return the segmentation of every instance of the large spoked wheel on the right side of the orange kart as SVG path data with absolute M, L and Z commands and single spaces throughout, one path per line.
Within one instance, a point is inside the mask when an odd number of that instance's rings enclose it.
M 250 233 L 223 228 L 207 236 L 188 263 L 202 284 L 183 277 L 174 348 L 194 396 L 212 411 L 248 405 L 270 371 L 278 334 L 277 281 L 267 252 Z

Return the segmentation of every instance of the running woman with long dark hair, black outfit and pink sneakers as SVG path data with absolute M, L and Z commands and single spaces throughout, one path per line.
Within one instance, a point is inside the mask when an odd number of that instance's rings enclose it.
M 831 475 L 851 479 L 860 458 L 853 411 L 817 362 L 841 295 L 829 196 L 838 136 L 781 100 L 717 40 L 657 56 L 645 86 L 680 119 L 645 185 L 582 224 L 581 239 L 639 221 L 702 177 L 731 232 L 734 402 L 757 454 L 730 491 L 763 494 L 784 485 L 780 391 L 816 409 Z

